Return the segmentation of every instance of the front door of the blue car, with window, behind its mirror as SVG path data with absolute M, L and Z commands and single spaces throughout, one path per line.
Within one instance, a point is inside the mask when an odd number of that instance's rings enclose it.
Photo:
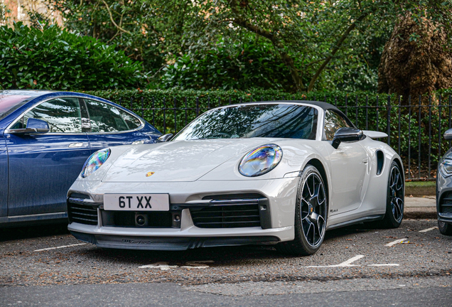
M 90 156 L 82 128 L 86 110 L 80 102 L 75 97 L 50 99 L 11 127 L 25 128 L 33 117 L 48 122 L 46 134 L 4 135 L 9 156 L 9 216 L 66 211 L 66 193 Z

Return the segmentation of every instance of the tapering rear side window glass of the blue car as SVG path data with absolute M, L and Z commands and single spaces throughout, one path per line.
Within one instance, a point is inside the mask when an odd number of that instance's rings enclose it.
M 91 132 L 117 132 L 136 129 L 141 122 L 131 114 L 104 102 L 85 99 Z

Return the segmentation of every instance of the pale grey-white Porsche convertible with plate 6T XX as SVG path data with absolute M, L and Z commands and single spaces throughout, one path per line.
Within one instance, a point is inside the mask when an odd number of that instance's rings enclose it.
M 313 254 L 325 230 L 399 227 L 401 158 L 325 102 L 251 102 L 200 115 L 157 144 L 92 154 L 68 191 L 68 229 L 99 247 L 277 244 Z

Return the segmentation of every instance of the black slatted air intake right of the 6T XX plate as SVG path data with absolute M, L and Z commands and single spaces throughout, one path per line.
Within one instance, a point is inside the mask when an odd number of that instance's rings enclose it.
M 260 227 L 259 200 L 212 200 L 208 208 L 190 208 L 200 228 Z

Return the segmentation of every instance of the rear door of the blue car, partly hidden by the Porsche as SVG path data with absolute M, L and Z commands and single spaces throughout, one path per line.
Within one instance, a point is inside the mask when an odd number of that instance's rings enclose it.
M 154 142 L 141 132 L 144 123 L 134 114 L 97 100 L 85 99 L 85 103 L 90 117 L 88 139 L 92 153 L 109 146 Z

